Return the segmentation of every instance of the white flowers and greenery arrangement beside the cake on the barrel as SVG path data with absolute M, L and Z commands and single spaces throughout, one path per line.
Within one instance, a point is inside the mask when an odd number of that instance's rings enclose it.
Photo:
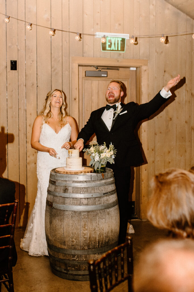
M 89 165 L 94 166 L 95 170 L 97 168 L 101 168 L 101 166 L 106 166 L 107 161 L 111 164 L 114 163 L 114 158 L 117 150 L 114 148 L 114 145 L 109 145 L 109 148 L 106 147 L 106 143 L 104 145 L 98 145 L 96 141 L 92 141 L 89 143 L 90 148 L 83 149 L 87 155 L 90 155 L 91 161 Z

